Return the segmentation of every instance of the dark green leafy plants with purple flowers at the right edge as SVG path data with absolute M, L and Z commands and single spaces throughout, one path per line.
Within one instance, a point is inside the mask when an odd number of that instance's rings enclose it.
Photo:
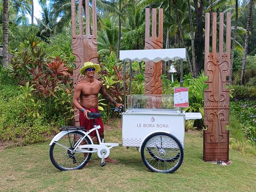
M 230 112 L 242 122 L 241 129 L 247 139 L 256 145 L 256 101 L 230 102 Z

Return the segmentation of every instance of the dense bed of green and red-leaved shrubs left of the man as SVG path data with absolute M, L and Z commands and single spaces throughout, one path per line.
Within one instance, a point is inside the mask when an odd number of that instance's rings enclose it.
M 29 36 L 20 44 L 11 68 L 1 68 L 1 140 L 21 140 L 26 145 L 45 140 L 58 126 L 73 124 L 72 49 L 66 44 L 59 56 L 52 52 L 49 60 L 41 45 L 39 38 Z

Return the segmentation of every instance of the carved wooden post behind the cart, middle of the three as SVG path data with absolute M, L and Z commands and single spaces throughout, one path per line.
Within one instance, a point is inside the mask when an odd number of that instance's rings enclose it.
M 157 9 L 152 9 L 152 36 L 150 37 L 150 9 L 146 9 L 145 18 L 145 49 L 163 48 L 163 9 L 159 9 L 158 17 L 158 36 L 157 36 Z M 145 63 L 145 94 L 162 94 L 162 61 L 154 63 L 148 61 Z M 151 98 L 148 101 L 149 108 L 159 108 L 161 106 L 161 97 Z

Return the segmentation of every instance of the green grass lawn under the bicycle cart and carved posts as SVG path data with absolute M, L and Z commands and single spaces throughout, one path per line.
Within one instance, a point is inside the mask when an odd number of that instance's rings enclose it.
M 121 129 L 105 131 L 106 142 L 121 143 Z M 256 156 L 230 150 L 229 166 L 205 163 L 202 133 L 185 134 L 183 164 L 173 174 L 149 172 L 136 148 L 111 150 L 118 163 L 61 172 L 49 160 L 49 142 L 0 151 L 0 191 L 256 191 Z

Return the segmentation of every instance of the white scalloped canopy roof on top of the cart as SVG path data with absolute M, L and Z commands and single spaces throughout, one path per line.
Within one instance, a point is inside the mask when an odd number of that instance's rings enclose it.
M 144 50 L 124 50 L 120 51 L 120 61 L 175 61 L 177 59 L 186 60 L 186 49 L 144 49 Z

